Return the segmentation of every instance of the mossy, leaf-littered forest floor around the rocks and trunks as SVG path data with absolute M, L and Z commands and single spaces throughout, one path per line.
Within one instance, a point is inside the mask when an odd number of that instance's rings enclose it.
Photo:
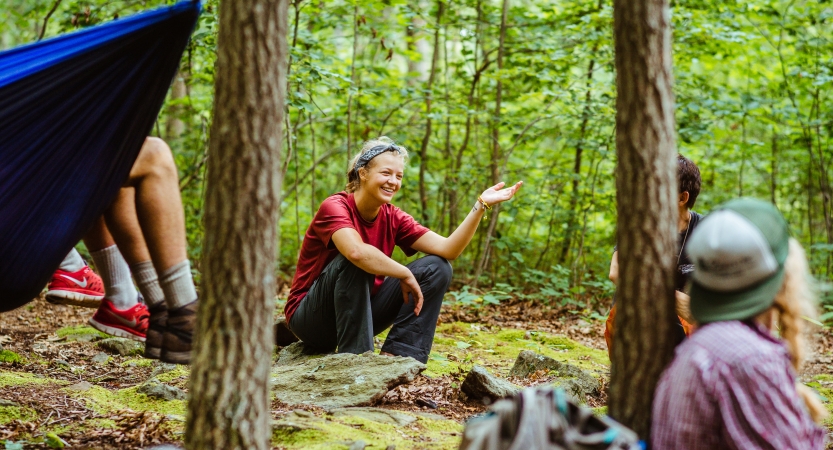
M 0 443 L 5 448 L 146 448 L 181 441 L 185 400 L 160 400 L 137 391 L 156 378 L 187 393 L 187 367 L 103 353 L 97 342 L 105 336 L 86 326 L 93 312 L 37 299 L 0 315 Z M 378 409 L 346 415 L 285 405 L 273 397 L 272 444 L 361 448 L 357 443 L 363 441 L 366 448 L 376 449 L 456 448 L 464 421 L 486 409 L 460 395 L 465 374 L 478 364 L 507 377 L 521 350 L 577 365 L 598 377 L 602 394 L 585 401 L 604 413 L 609 379 L 604 323 L 582 317 L 575 310 L 529 303 L 446 305 L 428 368 L 413 383 L 391 390 L 375 405 Z M 818 331 L 802 374 L 802 381 L 829 407 L 831 350 L 833 335 Z M 542 374 L 509 381 L 535 385 L 549 379 Z M 389 416 L 380 414 L 386 411 Z

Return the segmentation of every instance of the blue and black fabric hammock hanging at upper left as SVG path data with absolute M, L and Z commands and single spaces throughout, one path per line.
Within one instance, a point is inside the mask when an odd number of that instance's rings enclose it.
M 37 297 L 127 180 L 200 8 L 0 53 L 0 311 Z

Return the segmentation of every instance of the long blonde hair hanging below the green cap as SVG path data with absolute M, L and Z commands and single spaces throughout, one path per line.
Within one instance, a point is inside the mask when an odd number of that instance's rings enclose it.
M 790 238 L 789 253 L 784 262 L 784 284 L 772 305 L 781 337 L 787 344 L 792 366 L 796 372 L 804 362 L 807 350 L 806 334 L 809 323 L 806 318 L 816 316 L 814 283 L 807 267 L 804 249 Z M 809 387 L 796 382 L 799 397 L 804 400 L 813 421 L 821 423 L 828 412 L 821 400 Z

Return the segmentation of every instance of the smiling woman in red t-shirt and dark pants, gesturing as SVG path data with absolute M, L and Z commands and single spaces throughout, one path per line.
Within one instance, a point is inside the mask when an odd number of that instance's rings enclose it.
M 485 209 L 511 199 L 522 182 L 483 191 L 449 237 L 393 206 L 408 151 L 387 137 L 367 141 L 351 161 L 347 187 L 328 197 L 304 236 L 286 303 L 289 328 L 320 351 L 364 353 L 391 328 L 382 354 L 428 360 L 451 264 L 471 241 Z M 391 259 L 394 246 L 411 256 Z M 404 300 L 404 303 L 403 303 Z

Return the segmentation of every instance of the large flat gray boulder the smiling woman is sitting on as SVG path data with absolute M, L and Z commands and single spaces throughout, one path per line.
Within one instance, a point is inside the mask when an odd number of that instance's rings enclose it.
M 279 360 L 272 368 L 272 389 L 278 400 L 290 405 L 366 406 L 379 401 L 391 388 L 413 381 L 423 370 L 425 364 L 413 358 L 370 352 L 292 363 Z

